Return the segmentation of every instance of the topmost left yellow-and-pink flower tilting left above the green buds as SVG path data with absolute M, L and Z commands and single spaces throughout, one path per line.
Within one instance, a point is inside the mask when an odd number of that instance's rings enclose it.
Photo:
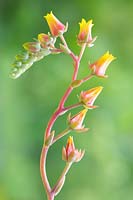
M 46 19 L 51 34 L 55 37 L 59 36 L 59 34 L 63 34 L 66 30 L 66 27 L 64 24 L 62 24 L 52 13 L 52 11 L 50 12 L 50 14 L 48 13 L 46 16 L 44 16 L 44 18 Z

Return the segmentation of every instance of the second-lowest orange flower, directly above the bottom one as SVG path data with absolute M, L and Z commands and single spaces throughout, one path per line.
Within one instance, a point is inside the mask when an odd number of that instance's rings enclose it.
M 69 115 L 68 116 L 69 127 L 76 131 L 87 131 L 88 128 L 84 128 L 84 126 L 82 125 L 87 111 L 88 109 L 84 109 L 80 111 L 78 114 L 74 115 L 73 117 Z

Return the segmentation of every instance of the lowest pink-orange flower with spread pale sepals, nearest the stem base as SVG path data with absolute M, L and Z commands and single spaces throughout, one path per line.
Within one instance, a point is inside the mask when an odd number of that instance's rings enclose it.
M 67 140 L 66 147 L 62 149 L 62 159 L 66 162 L 79 162 L 83 158 L 84 153 L 85 151 L 75 149 L 73 137 L 70 136 Z

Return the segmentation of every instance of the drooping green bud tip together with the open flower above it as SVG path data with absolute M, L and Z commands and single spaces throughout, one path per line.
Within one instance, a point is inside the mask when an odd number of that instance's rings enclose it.
M 34 42 L 23 44 L 24 50 L 15 57 L 10 73 L 11 78 L 18 78 L 26 70 L 28 70 L 34 62 L 43 59 L 49 54 L 60 53 L 61 50 L 55 48 L 56 38 L 67 30 L 67 25 L 63 25 L 51 12 L 44 16 L 51 33 L 38 34 L 38 38 Z

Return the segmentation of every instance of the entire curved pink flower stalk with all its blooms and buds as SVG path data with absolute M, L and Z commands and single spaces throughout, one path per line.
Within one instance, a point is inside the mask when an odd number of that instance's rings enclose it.
M 50 54 L 58 54 L 58 53 L 65 53 L 68 54 L 74 63 L 74 72 L 71 80 L 71 84 L 67 88 L 65 94 L 61 98 L 59 105 L 52 115 L 51 119 L 48 122 L 45 137 L 44 137 L 44 144 L 41 153 L 41 160 L 40 160 L 40 171 L 42 176 L 42 181 L 45 186 L 48 199 L 54 199 L 54 197 L 60 192 L 62 189 L 66 174 L 71 167 L 71 165 L 75 162 L 79 162 L 83 156 L 85 151 L 81 151 L 75 148 L 73 137 L 70 136 L 67 140 L 67 144 L 62 149 L 62 159 L 66 162 L 66 167 L 63 170 L 59 180 L 57 181 L 56 185 L 51 188 L 50 184 L 47 179 L 46 175 L 46 157 L 49 148 L 57 142 L 60 138 L 67 135 L 71 131 L 75 132 L 86 132 L 88 128 L 84 125 L 84 119 L 86 114 L 91 109 L 96 108 L 97 106 L 94 105 L 99 94 L 102 92 L 103 87 L 97 86 L 90 88 L 86 91 L 81 91 L 78 96 L 78 102 L 65 107 L 65 102 L 68 99 L 71 92 L 76 88 L 79 87 L 82 83 L 88 81 L 90 78 L 96 77 L 103 77 L 106 78 L 106 70 L 109 64 L 116 59 L 112 54 L 107 51 L 104 55 L 102 55 L 97 61 L 89 65 L 90 74 L 86 77 L 83 77 L 81 80 L 77 79 L 78 76 L 78 69 L 80 65 L 80 61 L 82 55 L 84 53 L 85 48 L 90 48 L 94 45 L 94 41 L 96 37 L 92 37 L 92 27 L 93 23 L 92 20 L 86 21 L 84 18 L 79 23 L 79 33 L 77 34 L 77 45 L 80 46 L 81 50 L 79 55 L 75 55 L 71 49 L 68 47 L 67 42 L 64 38 L 64 33 L 68 29 L 68 23 L 64 25 L 61 21 L 59 21 L 52 12 L 48 13 L 44 16 L 46 20 L 50 32 L 48 33 L 40 33 L 37 36 L 37 39 L 32 42 L 27 42 L 23 44 L 23 51 L 22 53 L 18 54 L 15 57 L 15 61 L 12 64 L 12 70 L 10 76 L 12 78 L 18 78 L 21 74 L 23 74 L 27 69 L 29 69 L 34 62 L 41 60 L 42 58 L 50 55 Z M 56 41 L 60 39 L 61 43 L 56 47 Z M 68 115 L 67 119 L 67 128 L 62 131 L 60 134 L 55 134 L 55 131 L 52 130 L 53 125 L 56 119 L 63 115 L 65 112 L 69 110 L 82 106 L 82 110 L 75 115 L 71 116 L 71 113 Z

